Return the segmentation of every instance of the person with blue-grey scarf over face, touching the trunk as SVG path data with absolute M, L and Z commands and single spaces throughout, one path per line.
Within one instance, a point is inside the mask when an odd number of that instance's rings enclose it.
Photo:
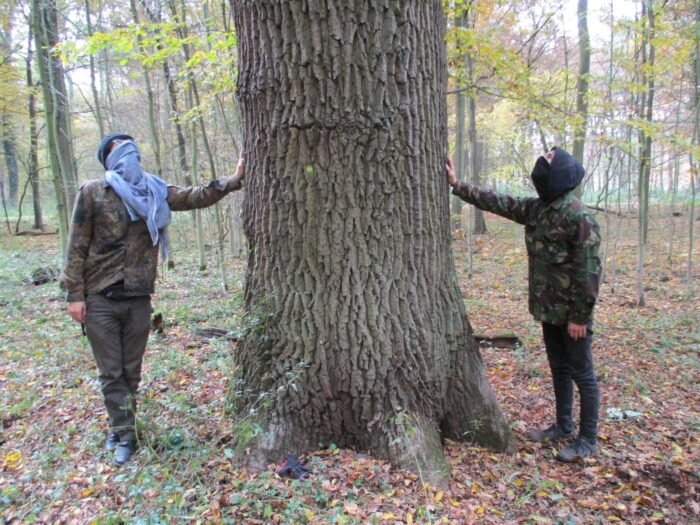
M 158 247 L 167 254 L 170 211 L 211 206 L 238 190 L 233 176 L 179 188 L 140 168 L 133 138 L 110 133 L 98 148 L 105 176 L 78 190 L 61 272 L 71 317 L 84 325 L 100 372 L 109 416 L 105 449 L 121 465 L 131 457 L 136 395 L 151 325 Z M 145 215 L 145 217 L 144 217 Z

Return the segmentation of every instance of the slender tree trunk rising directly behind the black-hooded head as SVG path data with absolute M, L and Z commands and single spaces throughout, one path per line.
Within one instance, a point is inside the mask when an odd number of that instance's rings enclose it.
M 573 156 L 584 163 L 583 151 L 586 145 L 588 123 L 588 77 L 591 71 L 591 41 L 588 35 L 588 0 L 578 0 L 578 80 L 576 84 L 576 123 L 574 126 Z M 583 182 L 574 191 L 583 195 Z

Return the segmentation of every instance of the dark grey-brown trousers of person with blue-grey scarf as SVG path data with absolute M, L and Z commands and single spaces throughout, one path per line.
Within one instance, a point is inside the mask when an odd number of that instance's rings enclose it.
M 136 393 L 151 327 L 151 298 L 88 296 L 85 330 L 100 372 L 110 431 L 135 440 Z

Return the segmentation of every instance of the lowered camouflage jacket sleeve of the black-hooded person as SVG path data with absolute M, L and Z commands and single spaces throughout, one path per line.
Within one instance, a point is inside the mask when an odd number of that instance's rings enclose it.
M 593 307 L 600 285 L 600 230 L 595 218 L 586 213 L 573 225 L 571 296 L 569 321 L 588 324 L 593 320 Z

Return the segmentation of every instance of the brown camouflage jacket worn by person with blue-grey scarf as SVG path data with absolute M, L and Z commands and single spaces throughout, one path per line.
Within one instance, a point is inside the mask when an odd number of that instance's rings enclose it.
M 233 177 L 208 185 L 168 186 L 172 211 L 206 208 L 241 187 Z M 153 246 L 146 222 L 132 221 L 121 198 L 103 178 L 78 190 L 70 225 L 61 281 L 66 300 L 84 301 L 110 284 L 124 281 L 127 296 L 153 293 L 158 246 Z

